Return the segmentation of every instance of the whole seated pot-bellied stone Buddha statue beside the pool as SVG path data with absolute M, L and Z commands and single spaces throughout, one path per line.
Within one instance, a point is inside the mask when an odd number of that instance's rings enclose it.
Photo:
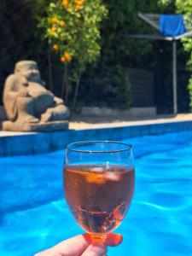
M 3 90 L 3 104 L 9 121 L 3 130 L 55 131 L 67 128 L 69 110 L 61 98 L 44 87 L 35 61 L 19 61 Z

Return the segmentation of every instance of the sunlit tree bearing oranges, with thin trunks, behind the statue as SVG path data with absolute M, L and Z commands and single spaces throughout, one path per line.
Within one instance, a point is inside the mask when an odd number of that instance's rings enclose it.
M 75 84 L 72 108 L 77 101 L 81 74 L 100 55 L 100 24 L 107 14 L 102 0 L 55 0 L 49 3 L 46 18 L 40 20 L 45 38 L 64 65 L 66 103 L 69 81 Z

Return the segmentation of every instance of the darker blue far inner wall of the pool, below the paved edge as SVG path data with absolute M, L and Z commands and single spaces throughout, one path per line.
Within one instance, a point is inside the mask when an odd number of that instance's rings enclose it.
M 152 125 L 67 130 L 0 136 L 0 156 L 40 154 L 65 148 L 67 143 L 84 140 L 121 140 L 179 131 L 191 131 L 192 121 L 177 121 Z

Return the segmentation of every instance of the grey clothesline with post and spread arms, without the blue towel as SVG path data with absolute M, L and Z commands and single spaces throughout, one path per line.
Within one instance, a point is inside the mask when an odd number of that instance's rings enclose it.
M 177 113 L 177 40 L 181 38 L 192 37 L 192 31 L 184 32 L 181 35 L 172 37 L 164 36 L 160 34 L 160 15 L 154 14 L 142 14 L 138 13 L 138 16 L 147 22 L 150 26 L 153 26 L 157 33 L 154 34 L 131 34 L 126 35 L 128 38 L 145 38 L 152 40 L 166 40 L 172 42 L 172 94 L 173 94 L 173 113 Z

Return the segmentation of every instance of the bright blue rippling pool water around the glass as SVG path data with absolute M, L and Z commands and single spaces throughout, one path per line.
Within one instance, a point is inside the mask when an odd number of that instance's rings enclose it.
M 192 131 L 125 140 L 136 191 L 115 256 L 192 255 Z M 63 151 L 0 159 L 0 255 L 33 255 L 82 233 L 62 193 Z

